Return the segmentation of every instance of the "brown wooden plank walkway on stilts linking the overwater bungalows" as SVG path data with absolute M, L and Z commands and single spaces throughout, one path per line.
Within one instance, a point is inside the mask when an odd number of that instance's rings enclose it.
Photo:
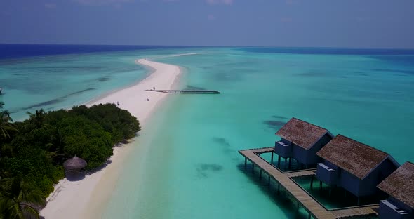
M 251 150 L 240 150 L 239 154 L 244 157 L 244 166 L 247 168 L 247 161 L 252 163 L 252 171 L 254 173 L 255 167 L 260 169 L 260 177 L 262 172 L 266 173 L 269 177 L 269 183 L 271 178 L 275 180 L 278 193 L 281 188 L 286 191 L 286 194 L 293 197 L 297 201 L 297 206 L 302 206 L 309 213 L 308 218 L 321 218 L 321 219 L 333 219 L 333 218 L 352 218 L 357 216 L 371 216 L 377 215 L 377 212 L 373 208 L 374 206 L 356 206 L 349 208 L 340 208 L 327 210 L 318 201 L 316 201 L 310 194 L 296 184 L 292 178 L 302 175 L 315 175 L 314 170 L 294 171 L 289 173 L 282 173 L 275 166 L 269 164 L 265 159 L 260 157 L 263 153 L 274 153 L 274 147 L 264 147 Z

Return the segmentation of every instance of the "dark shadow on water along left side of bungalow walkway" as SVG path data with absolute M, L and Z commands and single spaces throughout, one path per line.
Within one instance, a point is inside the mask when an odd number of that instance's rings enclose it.
M 294 200 L 286 196 L 286 193 L 282 189 L 280 190 L 280 193 L 277 194 L 276 183 L 274 180 L 270 180 L 270 184 L 268 184 L 268 176 L 264 172 L 262 173 L 262 178 L 260 178 L 259 169 L 255 168 L 255 172 L 252 173 L 251 164 L 248 164 L 246 168 L 244 168 L 244 164 L 238 164 L 237 168 L 251 180 L 251 183 L 253 184 L 251 186 L 258 186 L 270 201 L 276 206 L 279 206 L 286 218 L 307 218 L 308 214 L 303 208 L 300 208 L 299 211 L 296 212 Z

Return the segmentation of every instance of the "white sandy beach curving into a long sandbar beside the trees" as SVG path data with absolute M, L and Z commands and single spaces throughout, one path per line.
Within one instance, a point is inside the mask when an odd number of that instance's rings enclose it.
M 181 54 L 192 55 L 192 54 Z M 140 120 L 141 126 L 152 114 L 156 105 L 166 98 L 166 93 L 145 91 L 147 89 L 171 89 L 180 75 L 181 69 L 175 65 L 153 62 L 147 59 L 135 61 L 153 69 L 152 74 L 140 83 L 128 88 L 115 91 L 108 95 L 88 102 L 87 105 L 119 102 L 119 107 L 128 110 Z M 147 101 L 149 98 L 149 101 Z M 55 191 L 48 197 L 47 206 L 41 210 L 41 216 L 48 218 L 96 218 L 99 217 L 100 205 L 105 203 L 114 189 L 118 172 L 123 164 L 123 158 L 131 150 L 129 145 L 115 147 L 111 164 L 102 170 L 86 175 L 79 181 L 69 181 L 66 178 L 55 185 Z M 87 210 L 87 211 L 86 211 Z M 95 216 L 94 216 L 95 215 Z

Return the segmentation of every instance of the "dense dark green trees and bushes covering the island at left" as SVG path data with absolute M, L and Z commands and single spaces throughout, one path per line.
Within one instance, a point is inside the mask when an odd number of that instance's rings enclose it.
M 140 131 L 137 118 L 114 104 L 27 114 L 13 123 L 6 110 L 0 112 L 0 219 L 38 216 L 35 206 L 44 205 L 64 177 L 65 160 L 76 155 L 91 170 Z

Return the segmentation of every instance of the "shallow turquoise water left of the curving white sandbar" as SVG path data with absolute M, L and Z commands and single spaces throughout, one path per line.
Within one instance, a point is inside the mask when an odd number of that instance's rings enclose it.
M 65 46 L 61 47 L 67 49 Z M 123 47 L 119 49 L 121 48 Z M 95 49 L 99 51 L 102 48 Z M 40 51 L 37 51 L 39 55 L 45 52 L 45 49 L 37 50 Z M 183 51 L 192 51 L 192 48 Z M 28 55 L 34 52 L 27 51 Z M 54 52 L 57 53 L 58 48 Z M 27 111 L 33 112 L 39 108 L 46 111 L 57 110 L 81 105 L 105 93 L 138 83 L 149 71 L 135 64 L 136 59 L 157 57 L 159 54 L 171 55 L 176 50 L 165 48 L 79 52 L 79 48 L 76 48 L 67 52 L 76 54 L 25 58 L 11 56 L 0 59 L 0 87 L 4 93 L 0 96 L 0 101 L 6 104 L 5 108 L 11 112 L 15 121 L 26 119 Z

